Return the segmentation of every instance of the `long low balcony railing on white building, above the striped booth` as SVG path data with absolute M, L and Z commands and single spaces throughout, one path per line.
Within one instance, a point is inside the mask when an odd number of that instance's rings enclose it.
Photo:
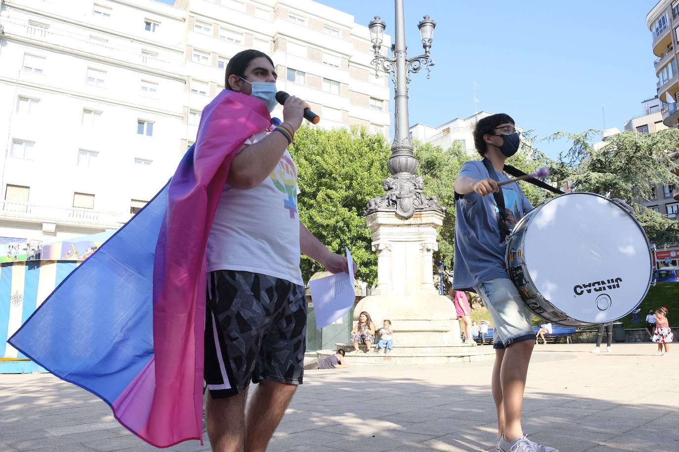
M 53 207 L 20 201 L 0 201 L 0 215 L 18 216 L 33 220 L 75 221 L 88 223 L 124 223 L 130 215 L 124 212 L 108 212 L 78 207 Z

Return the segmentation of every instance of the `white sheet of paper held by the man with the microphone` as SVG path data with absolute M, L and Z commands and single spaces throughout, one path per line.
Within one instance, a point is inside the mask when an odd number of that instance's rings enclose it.
M 356 300 L 354 261 L 349 248 L 346 248 L 346 260 L 349 264 L 348 274 L 342 272 L 309 281 L 316 315 L 316 328 L 323 328 L 337 319 L 342 319 L 342 316 L 354 306 L 354 300 Z

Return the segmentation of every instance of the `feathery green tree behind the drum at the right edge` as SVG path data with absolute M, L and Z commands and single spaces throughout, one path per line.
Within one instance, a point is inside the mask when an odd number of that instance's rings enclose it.
M 557 182 L 569 180 L 572 190 L 606 194 L 623 199 L 634 209 L 648 239 L 659 246 L 679 242 L 679 223 L 641 205 L 650 201 L 653 186 L 677 184 L 674 163 L 679 150 L 679 129 L 657 133 L 623 131 L 595 149 L 590 145 L 598 133 L 555 133 L 550 139 L 568 138 L 570 148 L 550 165 Z

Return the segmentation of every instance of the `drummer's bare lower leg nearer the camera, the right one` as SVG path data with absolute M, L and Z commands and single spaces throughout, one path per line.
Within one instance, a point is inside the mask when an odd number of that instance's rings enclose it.
M 521 407 L 524 405 L 528 363 L 534 346 L 535 344 L 528 340 L 511 344 L 504 350 L 500 385 L 504 407 L 504 439 L 507 441 L 513 441 L 524 435 L 521 428 Z

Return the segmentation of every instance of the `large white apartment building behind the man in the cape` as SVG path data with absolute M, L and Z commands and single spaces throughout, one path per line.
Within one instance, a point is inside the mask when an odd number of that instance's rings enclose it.
M 308 100 L 319 126 L 388 135 L 390 91 L 370 72 L 369 30 L 337 9 L 0 0 L 0 237 L 120 228 L 172 176 L 226 64 L 246 48 L 272 56 L 278 89 Z

